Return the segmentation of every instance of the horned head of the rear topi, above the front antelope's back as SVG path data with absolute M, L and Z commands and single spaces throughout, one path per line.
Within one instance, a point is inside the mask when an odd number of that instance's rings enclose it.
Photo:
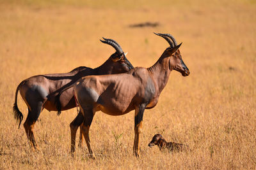
M 111 67 L 111 73 L 112 74 L 125 73 L 130 69 L 133 69 L 131 62 L 129 62 L 129 60 L 127 60 L 127 58 L 125 57 L 126 53 L 123 52 L 121 46 L 118 45 L 118 43 L 116 43 L 116 41 L 113 39 L 107 39 L 107 38 L 103 38 L 103 39 L 104 40 L 100 39 L 102 43 L 111 45 L 116 50 L 116 52 L 109 57 L 109 62 L 110 62 L 109 65 Z

